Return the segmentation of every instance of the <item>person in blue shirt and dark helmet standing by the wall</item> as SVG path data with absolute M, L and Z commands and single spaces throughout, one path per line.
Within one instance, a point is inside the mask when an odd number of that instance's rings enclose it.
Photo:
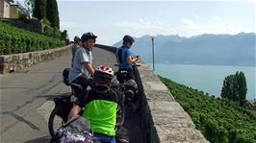
M 135 64 L 138 60 L 138 57 L 133 57 L 131 51 L 129 50 L 133 43 L 134 38 L 132 36 L 123 36 L 123 43 L 122 46 L 119 47 L 116 51 L 116 59 L 118 62 L 118 71 L 127 71 L 128 72 L 128 79 L 135 79 L 134 78 L 134 69 L 132 64 Z M 123 79 L 117 80 L 122 83 Z

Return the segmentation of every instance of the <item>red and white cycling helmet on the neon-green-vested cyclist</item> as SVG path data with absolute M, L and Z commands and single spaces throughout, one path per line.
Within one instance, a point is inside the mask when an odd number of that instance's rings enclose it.
M 111 83 L 114 78 L 114 71 L 108 65 L 99 65 L 94 71 L 94 79 L 98 83 Z

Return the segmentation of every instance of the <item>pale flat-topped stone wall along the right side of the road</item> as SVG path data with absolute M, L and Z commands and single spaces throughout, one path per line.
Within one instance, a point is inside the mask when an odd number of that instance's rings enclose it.
M 99 48 L 115 52 L 115 47 L 99 45 Z M 108 49 L 109 48 L 109 49 Z M 166 85 L 142 60 L 135 70 L 139 85 L 141 108 L 141 132 L 146 143 L 209 143 L 195 129 L 191 117 L 175 101 Z

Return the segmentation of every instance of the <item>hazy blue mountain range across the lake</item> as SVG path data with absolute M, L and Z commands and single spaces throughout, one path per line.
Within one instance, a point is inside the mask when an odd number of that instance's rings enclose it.
M 238 35 L 200 35 L 192 37 L 156 36 L 155 62 L 177 64 L 209 64 L 256 66 L 254 33 Z M 146 62 L 152 62 L 150 36 L 141 36 L 131 51 Z M 122 41 L 114 44 L 121 46 Z

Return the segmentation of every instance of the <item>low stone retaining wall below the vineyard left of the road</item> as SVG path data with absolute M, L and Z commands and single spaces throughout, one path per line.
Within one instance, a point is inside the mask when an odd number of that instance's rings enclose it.
M 32 64 L 38 63 L 40 61 L 53 60 L 68 52 L 70 50 L 70 46 L 71 45 L 67 45 L 61 48 L 38 52 L 2 55 L 0 56 L 0 73 L 8 74 L 24 67 L 31 66 Z

